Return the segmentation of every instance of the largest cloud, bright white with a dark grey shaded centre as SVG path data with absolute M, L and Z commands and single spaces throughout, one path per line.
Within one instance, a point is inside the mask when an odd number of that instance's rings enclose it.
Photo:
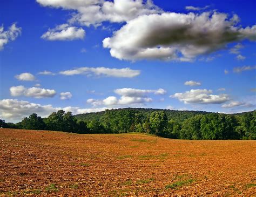
M 219 12 L 143 15 L 105 38 L 103 46 L 118 59 L 189 62 L 199 55 L 224 49 L 228 43 L 256 39 L 256 25 L 243 29 L 237 23 L 237 15 L 228 18 Z

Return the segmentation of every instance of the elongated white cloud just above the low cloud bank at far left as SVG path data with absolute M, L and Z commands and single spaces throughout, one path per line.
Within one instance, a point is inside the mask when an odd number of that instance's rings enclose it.
M 22 85 L 10 87 L 11 96 L 25 96 L 34 98 L 49 98 L 54 97 L 56 94 L 55 90 L 41 89 L 39 87 L 24 87 Z

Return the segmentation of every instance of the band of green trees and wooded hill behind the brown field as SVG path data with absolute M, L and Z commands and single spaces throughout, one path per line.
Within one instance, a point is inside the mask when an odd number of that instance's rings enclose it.
M 122 108 L 78 114 L 63 110 L 47 118 L 33 113 L 21 122 L 5 123 L 4 128 L 51 130 L 73 133 L 156 134 L 175 139 L 256 139 L 256 110 L 240 114 L 202 111 L 174 111 L 146 108 Z

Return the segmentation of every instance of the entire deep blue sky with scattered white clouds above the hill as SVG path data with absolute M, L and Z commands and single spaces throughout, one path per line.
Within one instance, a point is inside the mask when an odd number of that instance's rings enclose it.
M 60 109 L 255 109 L 255 0 L 0 5 L 0 119 Z

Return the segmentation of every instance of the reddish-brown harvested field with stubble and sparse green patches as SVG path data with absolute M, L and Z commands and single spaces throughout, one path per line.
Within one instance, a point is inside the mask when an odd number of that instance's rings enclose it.
M 0 129 L 0 194 L 256 195 L 256 141 Z

